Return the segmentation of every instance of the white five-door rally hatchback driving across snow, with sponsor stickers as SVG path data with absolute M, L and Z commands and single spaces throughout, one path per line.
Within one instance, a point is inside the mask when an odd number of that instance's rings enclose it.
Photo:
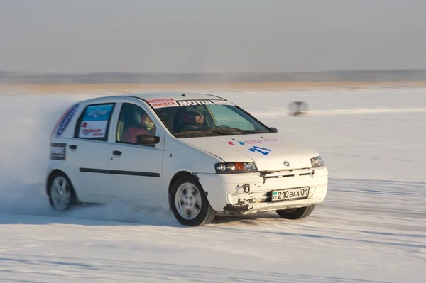
M 309 216 L 327 194 L 320 154 L 208 94 L 80 101 L 53 129 L 46 193 L 54 209 L 133 201 L 187 226 L 217 211 Z

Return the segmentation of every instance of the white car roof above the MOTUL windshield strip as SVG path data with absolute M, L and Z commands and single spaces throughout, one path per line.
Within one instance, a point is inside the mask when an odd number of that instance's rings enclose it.
M 97 103 L 102 101 L 111 101 L 111 99 L 123 99 L 124 97 L 134 97 L 144 100 L 154 99 L 175 99 L 175 100 L 207 100 L 207 99 L 223 99 L 213 94 L 201 94 L 195 92 L 144 92 L 135 94 L 121 94 L 116 96 L 102 96 L 94 99 L 87 99 L 84 102 Z

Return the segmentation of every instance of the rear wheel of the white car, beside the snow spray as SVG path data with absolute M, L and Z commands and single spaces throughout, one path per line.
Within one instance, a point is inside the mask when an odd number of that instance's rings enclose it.
M 74 189 L 67 176 L 60 172 L 50 178 L 49 201 L 53 209 L 63 211 L 70 208 L 74 199 Z

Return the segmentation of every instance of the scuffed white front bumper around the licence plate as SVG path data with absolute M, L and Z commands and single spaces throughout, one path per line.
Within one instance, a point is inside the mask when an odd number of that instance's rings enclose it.
M 271 174 L 197 174 L 212 209 L 247 214 L 318 204 L 327 195 L 327 167 Z M 249 192 L 248 191 L 249 187 Z M 307 199 L 272 201 L 272 191 L 309 187 Z M 244 192 L 244 189 L 246 192 Z

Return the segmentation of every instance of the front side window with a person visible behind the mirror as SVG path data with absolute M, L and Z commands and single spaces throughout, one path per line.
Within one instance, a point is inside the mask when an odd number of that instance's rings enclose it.
M 138 135 L 155 135 L 155 124 L 140 106 L 124 103 L 117 125 L 117 143 L 134 143 Z

